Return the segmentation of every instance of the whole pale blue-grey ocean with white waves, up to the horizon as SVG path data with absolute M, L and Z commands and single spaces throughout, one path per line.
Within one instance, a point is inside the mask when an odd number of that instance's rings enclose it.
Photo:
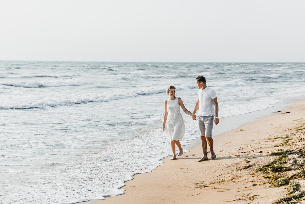
M 221 118 L 305 96 L 305 63 L 0 61 L 0 203 L 124 193 L 125 181 L 171 155 L 162 132 L 167 86 L 192 112 L 199 75 L 217 94 L 214 129 Z M 199 137 L 197 123 L 181 113 L 187 145 Z

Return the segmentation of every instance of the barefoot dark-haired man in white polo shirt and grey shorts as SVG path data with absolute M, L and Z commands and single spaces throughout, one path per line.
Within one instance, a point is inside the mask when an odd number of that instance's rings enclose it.
M 212 139 L 212 129 L 213 120 L 215 115 L 215 125 L 218 125 L 218 102 L 216 98 L 216 93 L 213 89 L 206 86 L 206 79 L 204 76 L 199 76 L 196 78 L 196 86 L 198 86 L 198 100 L 193 111 L 193 119 L 197 118 L 199 134 L 201 139 L 201 146 L 203 151 L 203 157 L 198 160 L 202 162 L 208 160 L 206 149 L 207 144 L 210 146 L 210 152 L 212 159 L 216 158 L 213 149 L 213 139 Z M 198 114 L 196 117 L 197 110 Z

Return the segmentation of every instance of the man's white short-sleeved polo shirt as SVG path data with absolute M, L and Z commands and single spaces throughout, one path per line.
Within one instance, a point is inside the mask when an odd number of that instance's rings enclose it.
M 199 111 L 198 115 L 209 116 L 215 115 L 215 105 L 213 99 L 216 98 L 216 92 L 210 87 L 198 90 Z

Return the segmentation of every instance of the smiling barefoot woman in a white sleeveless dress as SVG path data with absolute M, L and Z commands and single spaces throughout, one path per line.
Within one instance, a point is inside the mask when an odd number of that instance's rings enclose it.
M 164 101 L 165 114 L 162 131 L 164 131 L 167 138 L 171 141 L 170 145 L 173 151 L 173 157 L 170 160 L 175 160 L 176 145 L 179 148 L 178 156 L 183 154 L 183 149 L 179 140 L 182 140 L 182 137 L 185 133 L 185 126 L 182 114 L 180 113 L 180 106 L 186 114 L 190 116 L 193 115 L 184 107 L 182 99 L 176 96 L 176 88 L 174 86 L 167 87 L 166 93 L 170 98 Z

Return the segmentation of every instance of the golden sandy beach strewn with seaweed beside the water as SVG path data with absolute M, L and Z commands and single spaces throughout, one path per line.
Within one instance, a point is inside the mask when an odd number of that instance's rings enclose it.
M 122 187 L 123 195 L 84 203 L 274 203 L 292 196 L 302 200 L 304 114 L 305 100 L 294 102 L 214 137 L 214 160 L 208 153 L 209 160 L 198 162 L 198 142 L 178 159 L 165 158 L 152 172 L 135 175 Z

